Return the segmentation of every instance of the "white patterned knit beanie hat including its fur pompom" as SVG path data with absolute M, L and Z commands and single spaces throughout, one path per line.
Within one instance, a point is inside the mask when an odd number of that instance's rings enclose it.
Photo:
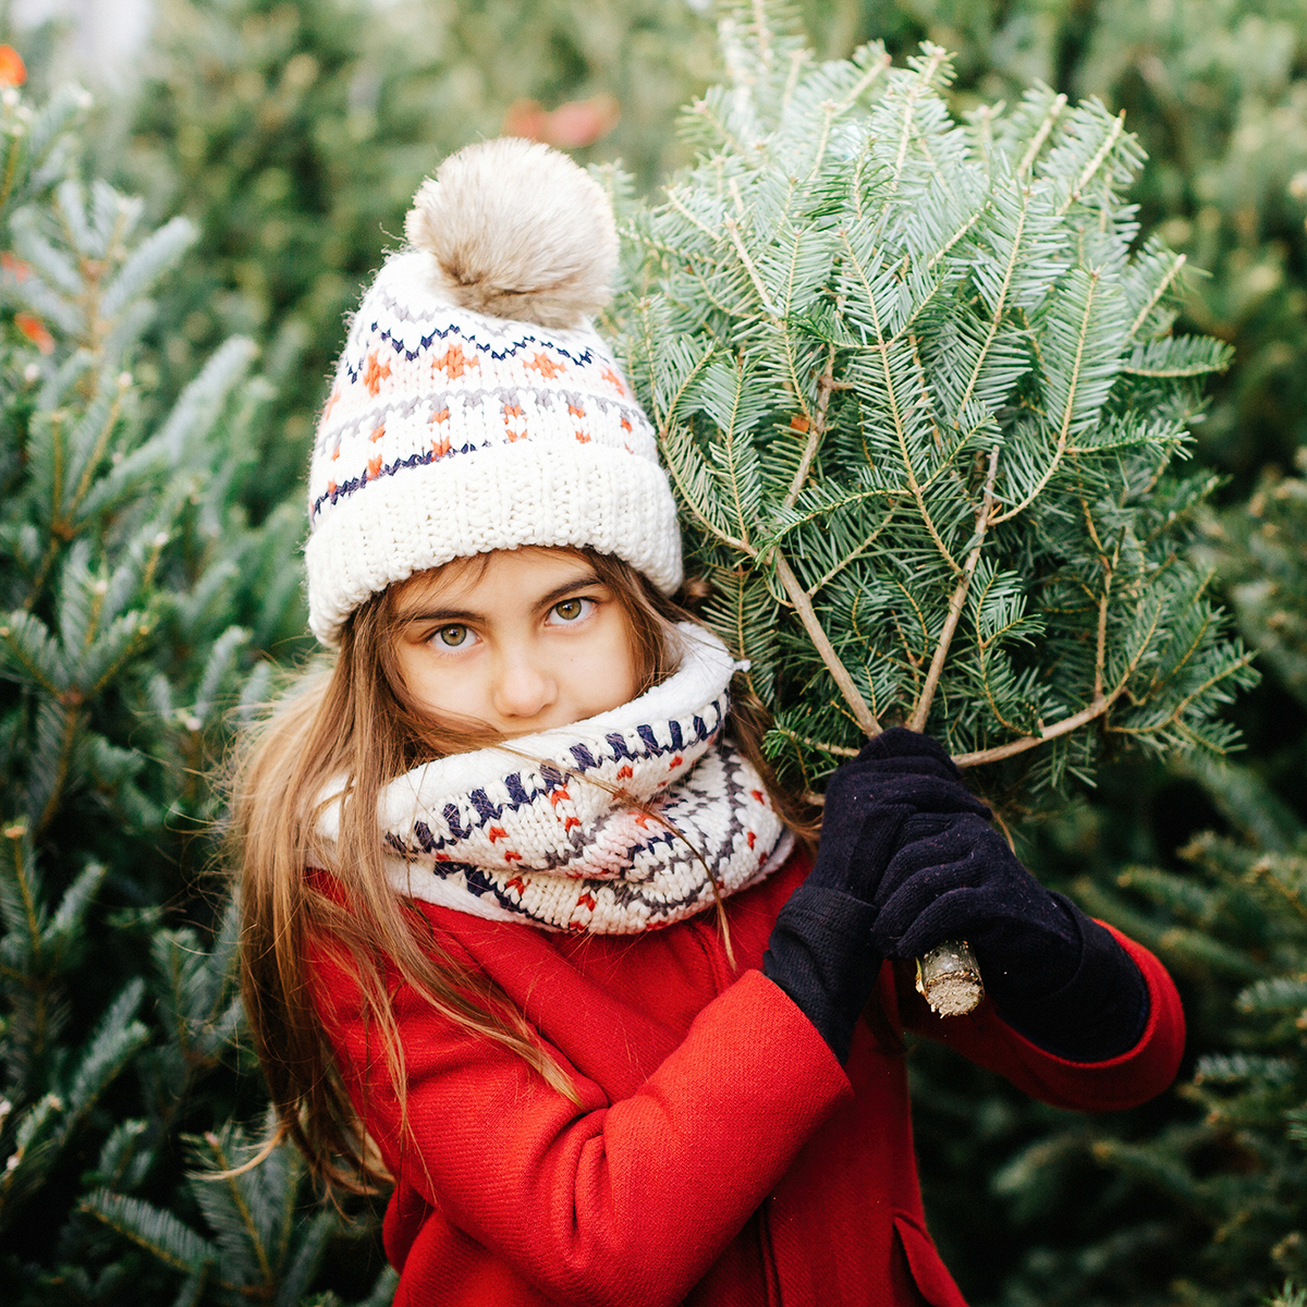
M 592 546 L 670 593 L 681 540 L 654 431 L 589 315 L 617 229 L 565 154 L 447 158 L 354 315 L 308 472 L 308 625 L 452 558 Z

